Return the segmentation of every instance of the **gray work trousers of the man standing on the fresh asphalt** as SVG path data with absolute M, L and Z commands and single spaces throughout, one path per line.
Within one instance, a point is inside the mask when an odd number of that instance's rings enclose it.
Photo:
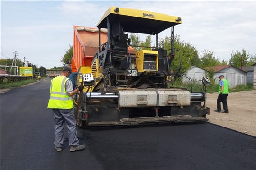
M 68 143 L 69 146 L 78 146 L 78 138 L 76 136 L 76 122 L 72 109 L 53 109 L 54 115 L 54 130 L 56 147 L 63 146 L 64 140 L 64 124 L 68 128 Z

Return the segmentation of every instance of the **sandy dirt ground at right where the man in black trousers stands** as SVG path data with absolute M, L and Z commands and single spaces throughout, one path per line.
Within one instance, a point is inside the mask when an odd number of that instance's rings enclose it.
M 207 93 L 207 115 L 210 123 L 256 136 L 256 90 L 229 93 L 229 113 L 216 113 L 218 93 Z M 223 111 L 222 103 L 221 109 Z

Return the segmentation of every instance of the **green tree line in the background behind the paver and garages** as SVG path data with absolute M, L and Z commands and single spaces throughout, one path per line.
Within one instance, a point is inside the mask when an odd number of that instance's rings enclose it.
M 131 45 L 135 46 L 146 46 L 146 47 L 155 47 L 155 44 L 152 45 L 151 35 L 147 35 L 145 41 L 142 41 L 138 34 L 131 33 L 130 34 Z M 171 36 L 166 36 L 165 38 L 160 38 L 158 41 L 158 46 L 163 49 L 169 49 L 171 47 Z M 175 57 L 170 66 L 170 69 L 176 70 L 180 66 L 179 54 L 180 51 L 181 60 L 182 60 L 182 70 L 185 71 L 191 66 L 198 66 L 201 68 L 213 67 L 219 65 L 233 65 L 237 68 L 241 67 L 241 59 L 242 66 L 251 66 L 256 63 L 256 54 L 249 54 L 245 49 L 241 51 L 232 51 L 232 56 L 229 61 L 222 60 L 220 61 L 218 56 L 216 57 L 213 51 L 204 50 L 202 54 L 199 56 L 199 52 L 190 42 L 184 42 L 180 39 L 179 35 L 175 35 L 174 37 L 174 47 L 175 47 Z M 149 50 L 149 48 L 140 48 L 135 47 L 136 51 L 140 49 Z M 167 51 L 169 53 L 171 49 Z M 69 45 L 69 48 L 65 50 L 64 56 L 61 57 L 60 61 L 63 65 L 71 64 L 71 60 L 73 57 L 73 45 Z M 54 67 L 53 69 L 61 69 L 61 67 Z

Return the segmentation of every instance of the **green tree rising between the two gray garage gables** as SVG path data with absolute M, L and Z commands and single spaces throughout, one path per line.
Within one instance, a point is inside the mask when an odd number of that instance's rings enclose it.
M 213 51 L 209 51 L 209 50 L 207 50 L 207 51 L 204 50 L 203 55 L 201 56 L 200 60 L 201 60 L 201 62 L 199 64 L 199 67 L 201 67 L 201 68 L 221 65 L 219 58 L 215 57 L 215 55 L 213 54 Z

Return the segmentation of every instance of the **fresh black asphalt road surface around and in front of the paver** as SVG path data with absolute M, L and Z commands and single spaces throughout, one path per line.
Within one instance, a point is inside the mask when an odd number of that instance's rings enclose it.
M 207 122 L 78 128 L 86 149 L 56 152 L 49 86 L 0 94 L 1 170 L 256 170 L 255 137 Z

